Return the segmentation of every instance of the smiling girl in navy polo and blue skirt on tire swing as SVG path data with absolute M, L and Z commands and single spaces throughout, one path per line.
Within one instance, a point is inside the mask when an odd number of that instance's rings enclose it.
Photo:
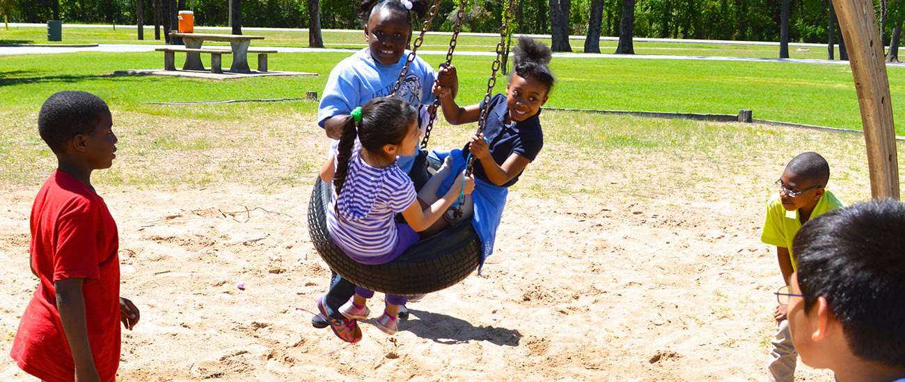
M 483 258 L 493 252 L 507 188 L 519 181 L 521 172 L 544 146 L 540 107 L 547 102 L 555 81 L 548 68 L 552 53 L 546 45 L 523 36 L 513 52 L 515 63 L 506 94 L 491 98 L 484 134 L 472 136 L 462 150 L 433 151 L 431 156 L 443 160 L 443 167 L 418 194 L 422 200 L 435 200 L 453 186 L 454 177 L 449 175 L 462 172 L 468 155 L 474 155 L 477 159 L 473 167 L 475 189 L 472 197 L 463 198 L 462 210 L 464 216 L 473 213 L 472 224 L 483 243 Z M 441 74 L 458 81 L 452 66 L 442 69 Z M 452 88 L 439 83 L 434 84 L 433 94 L 440 97 L 443 116 L 452 125 L 476 122 L 481 116 L 483 102 L 459 107 Z M 441 220 L 431 230 L 443 228 L 444 224 L 448 223 Z

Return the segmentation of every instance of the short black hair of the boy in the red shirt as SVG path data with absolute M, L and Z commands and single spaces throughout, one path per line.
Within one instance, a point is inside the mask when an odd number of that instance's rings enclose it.
M 110 107 L 85 91 L 61 91 L 44 101 L 38 113 L 38 134 L 53 153 L 62 154 L 75 135 L 91 135 Z

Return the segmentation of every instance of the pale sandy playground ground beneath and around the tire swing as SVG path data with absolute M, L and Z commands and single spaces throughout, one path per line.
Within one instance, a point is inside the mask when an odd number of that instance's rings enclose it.
M 128 142 L 140 116 L 114 118 Z M 252 170 L 316 163 L 326 140 L 313 118 L 262 121 L 262 130 L 305 127 L 262 144 L 275 154 L 244 153 L 262 157 Z M 141 309 L 136 330 L 124 331 L 119 380 L 763 380 L 781 283 L 774 253 L 759 242 L 768 186 L 794 154 L 816 150 L 840 199 L 869 197 L 862 137 L 682 122 L 700 133 L 607 149 L 570 140 L 565 126 L 612 136 L 641 120 L 544 118 L 550 139 L 510 191 L 483 274 L 410 304 L 395 336 L 362 322 L 355 345 L 309 322 L 329 275 L 306 227 L 315 167 L 270 187 L 99 186 L 119 224 L 122 294 Z M 622 135 L 671 142 L 662 135 L 672 122 L 645 124 L 653 126 Z M 462 131 L 437 145 L 458 146 Z M 708 140 L 725 145 L 695 148 Z M 151 165 L 130 163 L 128 148 L 114 164 L 121 171 Z M 36 284 L 27 263 L 37 189 L 0 191 L 3 381 L 35 380 L 7 354 Z M 378 294 L 372 310 L 380 303 Z M 799 380 L 832 380 L 799 370 Z

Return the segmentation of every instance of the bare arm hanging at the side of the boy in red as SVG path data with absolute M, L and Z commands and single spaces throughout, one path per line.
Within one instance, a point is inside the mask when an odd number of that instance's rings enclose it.
M 75 380 L 100 381 L 94 366 L 94 356 L 88 341 L 88 324 L 85 318 L 85 296 L 81 293 L 84 279 L 68 278 L 53 283 L 56 290 L 57 310 L 60 312 L 63 335 L 69 342 L 72 362 L 75 365 Z

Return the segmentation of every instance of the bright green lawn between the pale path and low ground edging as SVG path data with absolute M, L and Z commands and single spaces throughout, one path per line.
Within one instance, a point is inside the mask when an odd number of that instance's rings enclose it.
M 62 89 L 82 89 L 113 107 L 148 109 L 148 102 L 297 98 L 321 92 L 329 70 L 345 52 L 279 53 L 271 69 L 319 73 L 318 77 L 198 80 L 110 77 L 114 70 L 163 66 L 162 54 L 80 52 L 0 56 L 0 104 L 36 110 Z M 206 58 L 209 60 L 209 58 Z M 432 65 L 442 55 L 424 55 Z M 177 55 L 176 61 L 183 60 Z M 491 57 L 458 56 L 462 104 L 481 100 Z M 224 57 L 224 67 L 229 65 Z M 252 63 L 253 66 L 253 63 Z M 737 114 L 846 129 L 861 128 L 852 74 L 846 65 L 787 62 L 661 61 L 621 58 L 556 58 L 558 82 L 547 107 Z M 905 70 L 889 70 L 893 110 L 905 107 Z M 502 91 L 500 80 L 497 91 Z M 159 110 L 158 113 L 167 113 Z M 897 129 L 905 135 L 905 128 Z

